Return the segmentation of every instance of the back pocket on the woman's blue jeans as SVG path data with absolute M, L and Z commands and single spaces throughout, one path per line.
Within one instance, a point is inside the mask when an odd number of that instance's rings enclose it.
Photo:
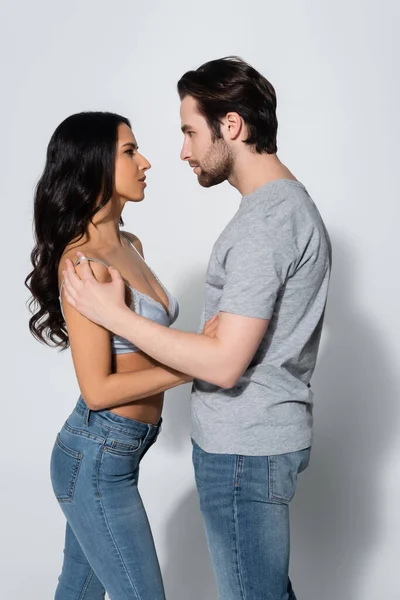
M 50 460 L 50 477 L 59 502 L 72 502 L 83 454 L 71 450 L 58 434 Z

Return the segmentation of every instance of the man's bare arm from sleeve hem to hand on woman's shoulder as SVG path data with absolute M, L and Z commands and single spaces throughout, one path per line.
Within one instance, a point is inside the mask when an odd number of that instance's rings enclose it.
M 65 296 L 87 318 L 133 342 L 158 362 L 220 387 L 235 385 L 252 360 L 268 327 L 268 319 L 221 312 L 215 337 L 158 325 L 132 312 L 124 302 L 124 283 L 109 269 L 111 283 L 99 283 L 88 262 L 80 279 L 67 262 Z

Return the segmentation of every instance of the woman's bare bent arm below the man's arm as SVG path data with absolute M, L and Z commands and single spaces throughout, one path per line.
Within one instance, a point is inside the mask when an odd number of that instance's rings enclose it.
M 90 263 L 90 266 L 98 281 L 110 281 L 106 267 L 98 263 Z M 79 273 L 79 266 L 77 271 Z M 192 380 L 164 366 L 112 373 L 110 332 L 72 308 L 64 292 L 62 300 L 79 388 L 90 409 L 121 406 Z

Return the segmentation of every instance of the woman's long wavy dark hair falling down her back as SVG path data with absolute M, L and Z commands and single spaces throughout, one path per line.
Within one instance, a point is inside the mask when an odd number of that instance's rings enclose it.
M 128 119 L 114 113 L 72 115 L 57 127 L 47 147 L 34 198 L 33 270 L 25 285 L 32 294 L 29 329 L 49 346 L 69 346 L 59 303 L 58 265 L 66 246 L 82 239 L 112 197 L 121 124 L 131 127 Z

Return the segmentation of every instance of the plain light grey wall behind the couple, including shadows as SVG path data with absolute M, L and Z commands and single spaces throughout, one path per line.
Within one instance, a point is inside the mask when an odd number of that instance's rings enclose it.
M 6 2 L 1 50 L 1 596 L 52 598 L 64 519 L 48 463 L 77 398 L 68 353 L 29 335 L 32 192 L 66 116 L 131 118 L 153 169 L 127 228 L 195 330 L 212 244 L 236 211 L 180 162 L 175 84 L 239 54 L 275 85 L 279 155 L 328 225 L 334 270 L 312 462 L 292 509 L 299 600 L 400 598 L 399 4 L 389 0 Z M 141 489 L 172 600 L 215 600 L 190 462 L 189 389 L 168 393 Z

